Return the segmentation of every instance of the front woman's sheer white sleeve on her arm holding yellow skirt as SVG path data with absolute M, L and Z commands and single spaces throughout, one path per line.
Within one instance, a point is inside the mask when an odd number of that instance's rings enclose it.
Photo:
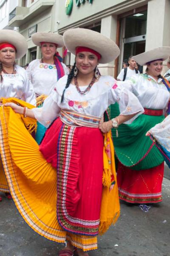
M 59 116 L 60 108 L 57 104 L 58 102 L 58 93 L 55 90 L 45 99 L 42 108 L 33 108 L 35 118 L 42 125 L 48 128 L 49 125 Z

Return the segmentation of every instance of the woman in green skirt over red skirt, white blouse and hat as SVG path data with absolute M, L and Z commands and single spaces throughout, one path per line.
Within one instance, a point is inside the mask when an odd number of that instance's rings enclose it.
M 119 126 L 118 138 L 113 130 L 114 147 L 119 160 L 119 198 L 128 203 L 162 201 L 164 158 L 145 134 L 164 119 L 167 111 L 170 87 L 168 81 L 161 76 L 161 71 L 162 61 L 169 55 L 170 47 L 159 47 L 134 56 L 133 59 L 140 65 L 147 65 L 146 73 L 120 82 L 136 95 L 144 108 L 144 114 L 132 124 Z M 111 118 L 119 114 L 114 106 L 111 106 L 111 112 Z

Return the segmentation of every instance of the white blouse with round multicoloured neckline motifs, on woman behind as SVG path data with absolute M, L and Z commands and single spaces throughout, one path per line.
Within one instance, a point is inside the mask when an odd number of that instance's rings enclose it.
M 62 63 L 65 75 L 68 75 L 68 69 Z M 31 61 L 26 72 L 31 80 L 34 91 L 37 95 L 49 95 L 57 81 L 57 69 L 55 65 L 41 63 L 41 60 L 36 59 Z

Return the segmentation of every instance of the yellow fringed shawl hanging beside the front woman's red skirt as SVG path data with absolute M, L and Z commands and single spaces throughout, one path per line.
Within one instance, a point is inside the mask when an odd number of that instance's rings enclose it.
M 111 131 L 104 134 L 103 164 L 103 190 L 99 225 L 100 235 L 105 233 L 111 224 L 115 224 L 120 215 L 119 192 Z

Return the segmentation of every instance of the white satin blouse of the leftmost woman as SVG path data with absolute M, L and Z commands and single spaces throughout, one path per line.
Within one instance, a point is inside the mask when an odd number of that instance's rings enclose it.
M 16 74 L 3 74 L 3 82 L 0 82 L 0 97 L 14 97 L 22 99 L 32 105 L 36 105 L 35 93 L 26 70 L 16 65 Z

